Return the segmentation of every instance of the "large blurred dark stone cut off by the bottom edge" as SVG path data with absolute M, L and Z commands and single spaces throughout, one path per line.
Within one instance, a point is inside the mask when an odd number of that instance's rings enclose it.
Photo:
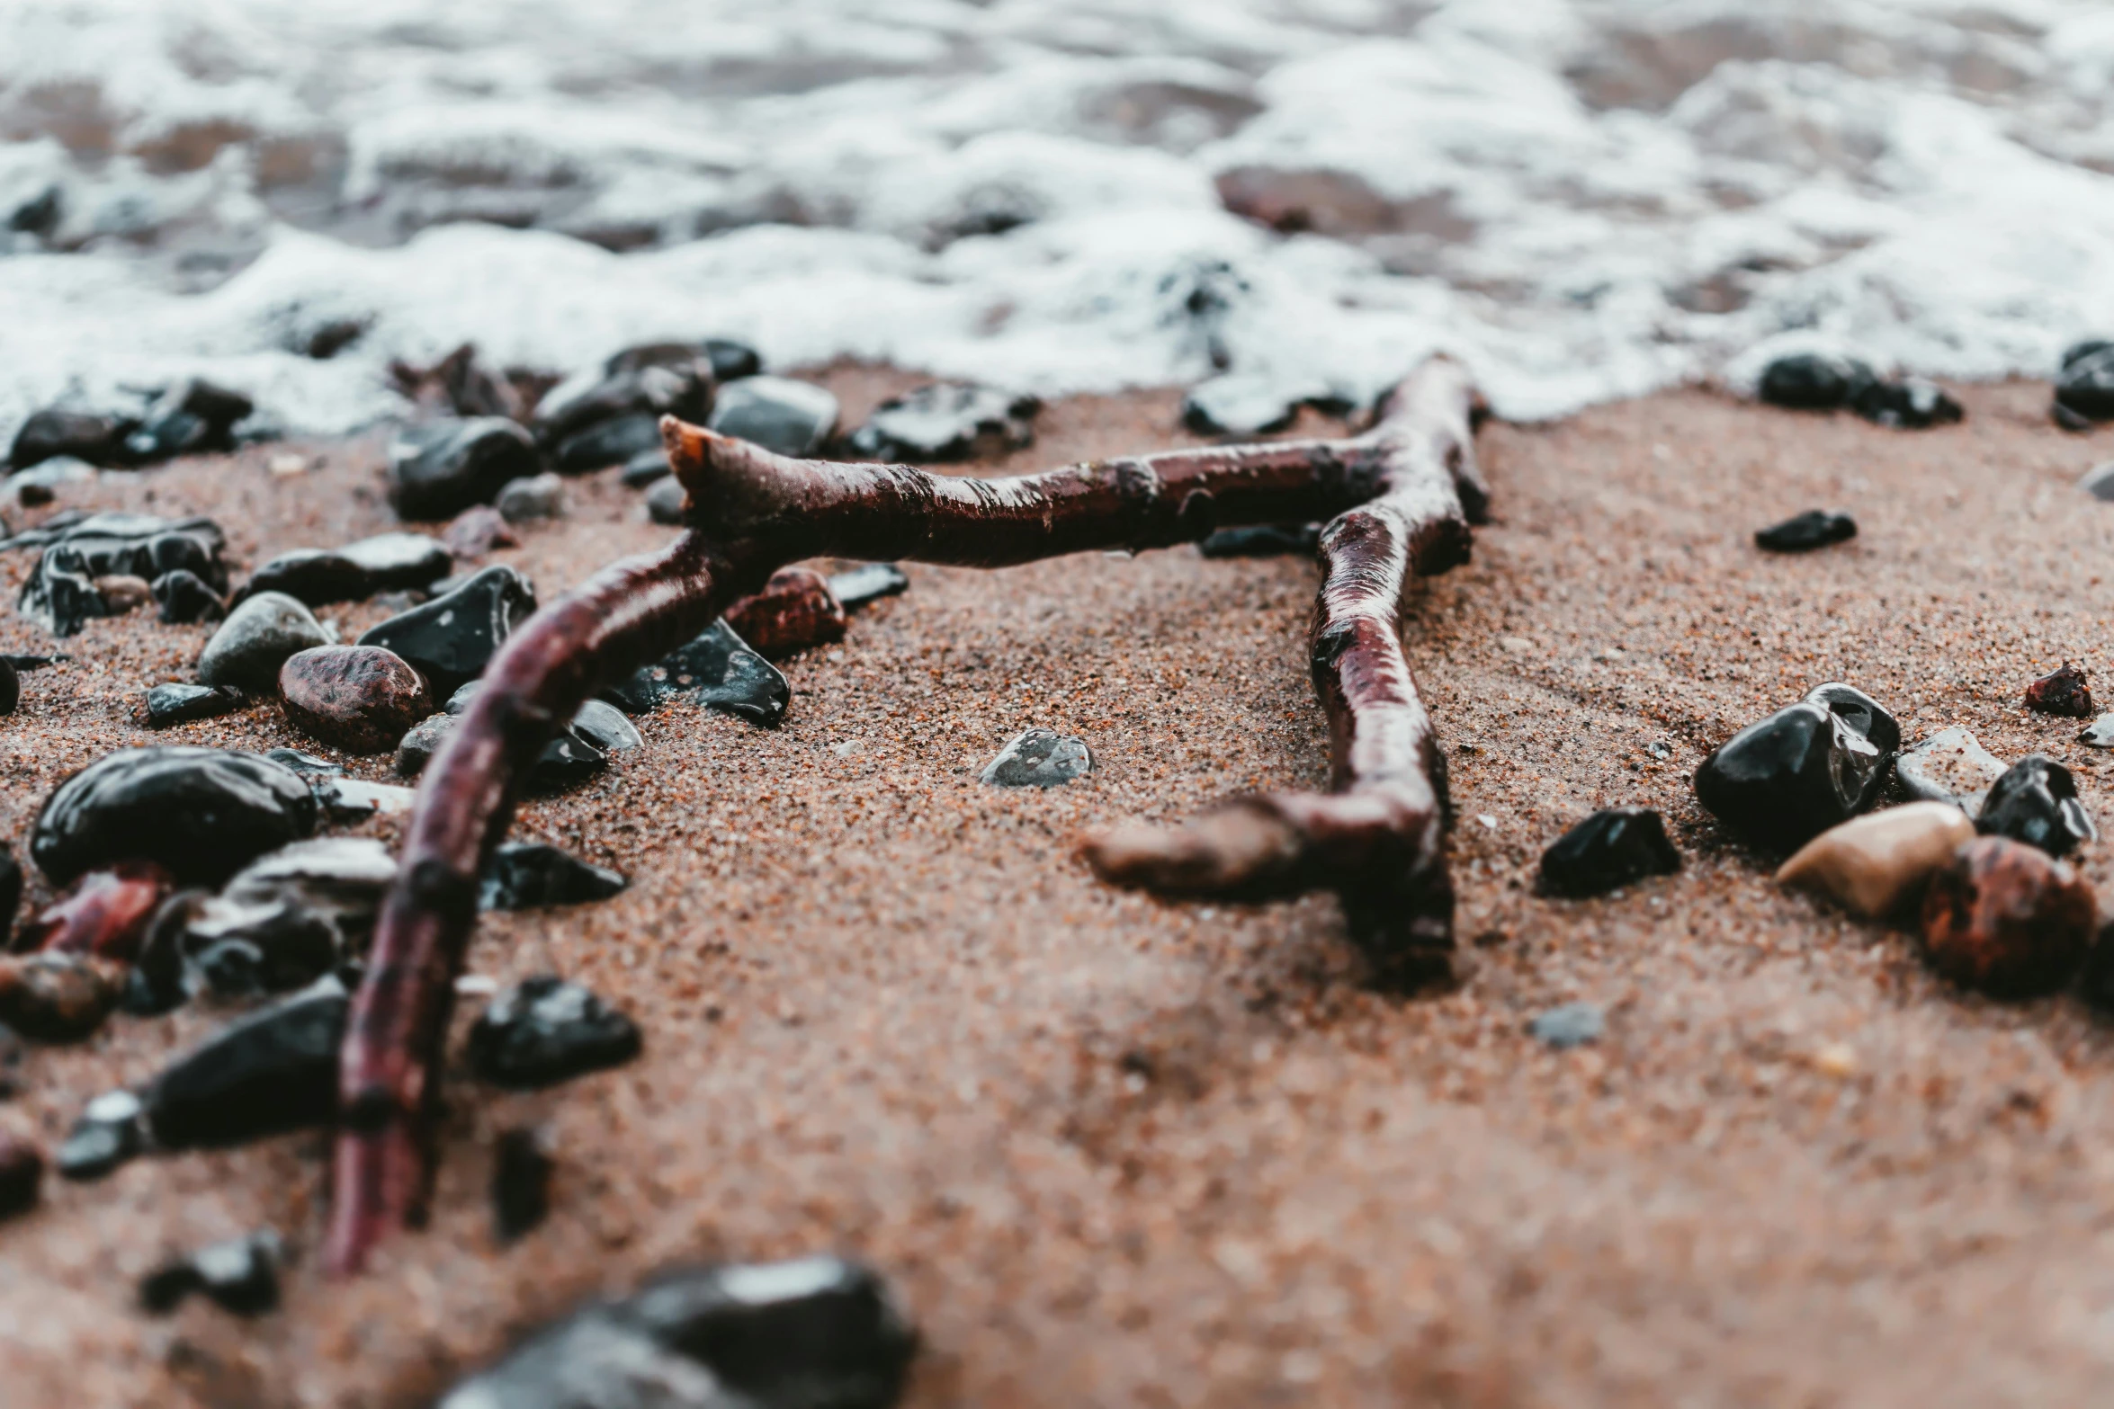
M 438 1409 L 888 1409 L 915 1352 L 917 1333 L 867 1267 L 704 1267 L 588 1303 Z

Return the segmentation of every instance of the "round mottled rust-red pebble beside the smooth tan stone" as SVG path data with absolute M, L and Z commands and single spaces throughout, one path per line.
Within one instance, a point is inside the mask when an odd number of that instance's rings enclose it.
M 2097 923 L 2091 881 L 2008 837 L 1960 847 L 1924 894 L 1924 957 L 1991 997 L 2034 997 L 2070 982 Z

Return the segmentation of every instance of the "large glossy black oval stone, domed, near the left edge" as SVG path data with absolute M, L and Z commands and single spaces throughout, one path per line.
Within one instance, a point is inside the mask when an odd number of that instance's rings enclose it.
M 161 862 L 178 881 L 218 883 L 315 830 L 298 773 L 224 748 L 120 748 L 44 801 L 30 860 L 66 885 L 110 862 Z

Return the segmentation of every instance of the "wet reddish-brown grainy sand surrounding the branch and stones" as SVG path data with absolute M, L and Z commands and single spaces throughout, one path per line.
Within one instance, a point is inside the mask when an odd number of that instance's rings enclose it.
M 911 382 L 829 380 L 852 416 Z M 315 1267 L 315 1134 L 49 1179 L 0 1225 L 0 1398 L 421 1403 L 581 1295 L 824 1248 L 911 1308 L 917 1407 L 2099 1398 L 2108 1029 L 2072 997 L 1951 991 L 1909 936 L 1780 894 L 1687 784 L 1736 727 L 1850 680 L 1911 739 L 1964 725 L 2000 758 L 2070 763 L 2114 822 L 2078 725 L 2019 703 L 2065 657 L 2114 703 L 2114 505 L 2072 488 L 2114 431 L 2063 435 L 2038 384 L 1958 393 L 1968 420 L 1928 433 L 1702 391 L 1484 431 L 1499 522 L 1406 619 L 1452 760 L 1469 961 L 1418 999 L 1359 987 L 1325 898 L 1161 904 L 1072 856 L 1089 826 L 1321 786 L 1309 562 L 911 566 L 907 596 L 786 665 L 778 731 L 666 706 L 645 750 L 522 811 L 516 837 L 632 889 L 488 917 L 471 970 L 588 982 L 641 1020 L 638 1063 L 520 1096 L 457 1056 L 431 1227 L 351 1284 Z M 1057 403 L 1006 469 L 1184 444 L 1177 401 Z M 214 513 L 237 572 L 393 524 L 378 439 L 313 450 L 307 475 L 271 475 L 288 446 L 266 446 L 59 507 Z M 545 598 L 670 532 L 613 471 L 569 492 L 569 520 L 495 556 Z M 1807 507 L 1850 509 L 1860 537 L 1755 551 Z M 0 558 L 8 600 L 32 560 Z M 347 634 L 381 617 L 323 615 Z M 271 703 L 137 727 L 205 636 L 97 621 L 27 674 L 0 720 L 0 837 L 19 849 L 51 786 L 116 746 L 330 754 Z M 49 642 L 0 613 L 0 649 Z M 1089 779 L 977 784 L 1030 725 L 1082 735 Z M 1666 813 L 1687 870 L 1535 898 L 1541 849 L 1626 803 Z M 2082 860 L 2101 887 L 2106 858 Z M 1596 1046 L 1524 1035 L 1571 999 L 1609 1008 Z M 38 1050 L 0 1128 L 55 1145 L 89 1096 L 220 1020 L 118 1016 Z M 499 1251 L 493 1145 L 535 1122 L 556 1134 L 554 1213 Z M 279 1314 L 133 1310 L 167 1253 L 264 1223 L 302 1257 Z

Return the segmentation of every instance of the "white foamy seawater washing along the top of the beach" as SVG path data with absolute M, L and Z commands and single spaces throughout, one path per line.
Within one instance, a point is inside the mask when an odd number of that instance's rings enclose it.
M 2114 327 L 2110 95 L 2091 0 L 11 4 L 0 437 L 184 372 L 336 433 L 463 340 L 1353 397 L 1450 349 L 1509 416 L 1810 342 L 2046 374 Z

